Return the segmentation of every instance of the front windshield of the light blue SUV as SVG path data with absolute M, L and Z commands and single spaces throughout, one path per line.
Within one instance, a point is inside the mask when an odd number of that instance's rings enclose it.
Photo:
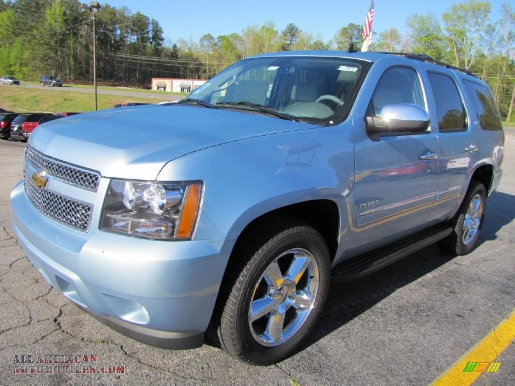
M 186 100 L 333 124 L 348 114 L 368 67 L 367 62 L 344 58 L 246 59 L 211 78 Z

